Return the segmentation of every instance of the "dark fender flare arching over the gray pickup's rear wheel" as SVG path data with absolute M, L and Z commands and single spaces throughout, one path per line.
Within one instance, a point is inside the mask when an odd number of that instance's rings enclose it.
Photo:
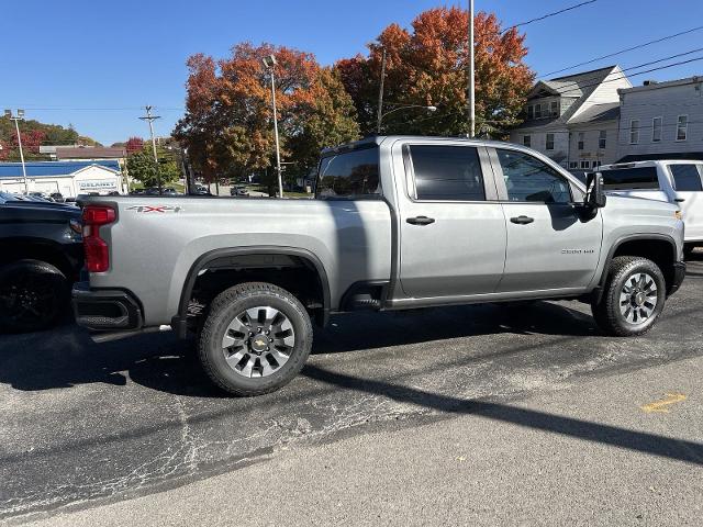
M 192 294 L 196 280 L 198 279 L 198 274 L 200 273 L 200 271 L 207 269 L 211 262 L 220 258 L 247 255 L 286 255 L 294 256 L 310 262 L 317 273 L 317 278 L 320 279 L 320 283 L 322 285 L 323 315 L 320 322 L 323 326 L 327 324 L 330 319 L 332 303 L 330 293 L 330 279 L 327 278 L 327 271 L 325 270 L 324 265 L 322 264 L 320 258 L 317 258 L 317 256 L 315 256 L 308 249 L 302 249 L 299 247 L 284 247 L 276 245 L 225 247 L 213 249 L 201 255 L 192 264 L 192 266 L 188 270 L 188 274 L 186 274 L 186 281 L 183 282 L 183 288 L 180 293 L 180 301 L 178 303 L 178 314 L 171 318 L 171 327 L 174 330 L 176 330 L 180 338 L 185 338 L 188 332 L 188 302 L 190 301 L 190 295 Z

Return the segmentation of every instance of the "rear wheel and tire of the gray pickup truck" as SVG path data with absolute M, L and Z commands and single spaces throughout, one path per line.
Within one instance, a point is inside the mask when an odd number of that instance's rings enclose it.
M 300 372 L 312 337 L 310 316 L 295 296 L 271 283 L 241 283 L 212 301 L 198 355 L 217 386 L 238 396 L 261 395 Z

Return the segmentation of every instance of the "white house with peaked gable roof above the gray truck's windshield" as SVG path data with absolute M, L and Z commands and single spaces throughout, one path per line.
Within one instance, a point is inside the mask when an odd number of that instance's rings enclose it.
M 618 66 L 538 81 L 525 122 L 511 142 L 529 146 L 571 170 L 616 160 L 618 89 L 632 85 Z

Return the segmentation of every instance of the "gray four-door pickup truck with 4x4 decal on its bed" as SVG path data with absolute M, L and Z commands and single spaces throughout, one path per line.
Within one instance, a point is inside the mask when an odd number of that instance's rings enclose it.
M 79 324 L 198 334 L 205 372 L 256 395 L 303 367 L 312 322 L 355 310 L 576 299 L 649 329 L 683 280 L 677 206 L 605 195 L 516 145 L 388 136 L 322 153 L 314 200 L 91 197 Z

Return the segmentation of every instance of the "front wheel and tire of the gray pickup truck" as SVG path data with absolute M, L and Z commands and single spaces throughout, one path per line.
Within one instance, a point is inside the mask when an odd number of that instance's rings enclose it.
M 644 282 L 638 280 L 643 276 L 647 277 Z M 634 256 L 613 258 L 601 301 L 591 304 L 593 317 L 607 335 L 641 335 L 651 329 L 663 310 L 666 288 L 661 269 L 654 261 Z

